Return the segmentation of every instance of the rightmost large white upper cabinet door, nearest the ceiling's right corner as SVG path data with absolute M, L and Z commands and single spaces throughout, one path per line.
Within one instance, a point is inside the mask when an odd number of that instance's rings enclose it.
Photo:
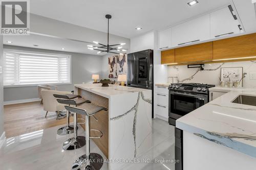
M 230 9 L 231 10 L 230 10 Z M 216 38 L 229 34 L 238 34 L 243 32 L 240 30 L 241 25 L 239 19 L 231 13 L 232 7 L 225 7 L 210 13 L 210 38 Z M 240 28 L 239 28 L 240 26 Z

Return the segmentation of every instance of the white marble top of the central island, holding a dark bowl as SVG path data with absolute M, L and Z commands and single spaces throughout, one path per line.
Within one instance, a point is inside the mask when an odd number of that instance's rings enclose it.
M 119 86 L 119 85 L 113 85 L 109 84 L 109 87 L 102 87 L 101 83 L 87 83 L 87 84 L 75 84 L 74 86 L 77 88 L 81 88 L 83 90 L 90 91 L 92 93 L 101 95 L 105 98 L 110 99 L 113 95 L 118 94 L 126 94 L 126 93 L 133 93 L 133 92 L 139 92 L 139 91 L 147 91 L 148 89 L 142 89 L 142 88 L 135 88 L 135 87 L 127 87 L 127 86 Z

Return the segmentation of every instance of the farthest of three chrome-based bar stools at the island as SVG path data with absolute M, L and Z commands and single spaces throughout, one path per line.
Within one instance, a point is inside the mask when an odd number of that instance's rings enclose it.
M 75 106 L 81 105 L 86 102 L 90 102 L 88 100 L 82 99 L 81 96 L 77 95 L 77 94 L 53 94 L 53 96 L 57 99 L 66 99 L 66 100 L 75 99 L 75 101 L 76 101 Z M 58 129 L 57 130 L 58 135 L 67 135 L 67 134 L 71 134 L 74 132 L 74 127 L 72 125 L 70 125 L 70 114 L 71 113 L 68 111 L 67 112 L 67 126 Z

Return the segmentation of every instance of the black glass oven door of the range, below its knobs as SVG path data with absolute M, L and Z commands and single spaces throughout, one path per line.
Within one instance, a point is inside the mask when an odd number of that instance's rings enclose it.
M 169 91 L 169 117 L 176 120 L 207 103 L 207 95 Z

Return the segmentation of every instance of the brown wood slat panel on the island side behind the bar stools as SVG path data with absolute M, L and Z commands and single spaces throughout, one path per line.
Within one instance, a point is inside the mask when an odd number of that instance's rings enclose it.
M 107 98 L 82 89 L 78 89 L 78 94 L 80 94 L 82 98 L 90 100 L 92 104 L 103 106 L 109 109 L 109 99 Z M 103 152 L 106 158 L 109 158 L 109 112 L 102 110 L 96 113 L 94 116 L 98 119 L 98 122 L 95 120 L 94 117 L 91 116 L 91 129 L 97 129 L 101 131 L 103 133 L 103 136 L 99 139 L 93 139 L 93 141 Z M 78 115 L 78 117 L 85 118 L 84 115 Z M 84 130 L 86 129 L 84 124 L 81 124 L 81 126 Z M 98 134 L 91 131 L 91 136 L 98 136 Z

